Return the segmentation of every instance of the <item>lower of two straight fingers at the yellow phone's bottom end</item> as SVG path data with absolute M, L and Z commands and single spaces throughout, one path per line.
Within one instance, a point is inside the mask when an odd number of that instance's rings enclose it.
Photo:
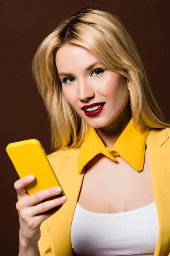
M 29 208 L 30 215 L 35 216 L 38 214 L 42 214 L 43 212 L 47 212 L 55 207 L 61 206 L 62 204 L 65 203 L 65 201 L 66 201 L 66 196 L 62 196 L 62 197 L 55 198 L 50 201 L 45 201 L 43 203 L 37 204 L 37 205 Z

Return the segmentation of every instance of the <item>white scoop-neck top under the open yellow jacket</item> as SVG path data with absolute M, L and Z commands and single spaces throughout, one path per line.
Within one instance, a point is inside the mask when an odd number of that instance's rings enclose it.
M 76 205 L 71 226 L 76 256 L 153 256 L 158 236 L 155 202 L 120 213 L 90 212 Z

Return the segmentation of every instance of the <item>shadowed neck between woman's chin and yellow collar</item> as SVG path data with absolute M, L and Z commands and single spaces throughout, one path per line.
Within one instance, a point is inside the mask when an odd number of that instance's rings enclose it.
M 117 116 L 109 125 L 105 127 L 96 128 L 96 132 L 102 139 L 105 146 L 108 146 L 108 148 L 113 148 L 113 145 L 119 138 L 122 131 L 127 126 L 131 117 L 132 113 L 129 100 L 123 111 L 119 114 L 119 116 Z

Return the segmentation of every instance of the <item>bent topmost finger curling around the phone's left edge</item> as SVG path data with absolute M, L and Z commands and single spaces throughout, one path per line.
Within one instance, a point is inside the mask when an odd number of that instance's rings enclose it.
M 23 196 L 28 195 L 27 191 L 26 191 L 26 185 L 33 182 L 34 179 L 35 179 L 34 175 L 28 175 L 28 176 L 25 176 L 25 177 L 15 181 L 14 188 L 15 188 L 15 190 L 17 192 L 17 195 L 19 197 L 23 197 Z

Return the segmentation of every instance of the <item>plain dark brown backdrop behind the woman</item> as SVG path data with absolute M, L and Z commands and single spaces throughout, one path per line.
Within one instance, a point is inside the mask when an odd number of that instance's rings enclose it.
M 13 186 L 18 176 L 6 145 L 36 138 L 47 154 L 51 152 L 47 113 L 32 79 L 34 53 L 62 19 L 85 6 L 108 9 L 124 22 L 141 55 L 151 90 L 170 120 L 169 0 L 1 0 L 0 255 L 18 255 L 19 221 Z

